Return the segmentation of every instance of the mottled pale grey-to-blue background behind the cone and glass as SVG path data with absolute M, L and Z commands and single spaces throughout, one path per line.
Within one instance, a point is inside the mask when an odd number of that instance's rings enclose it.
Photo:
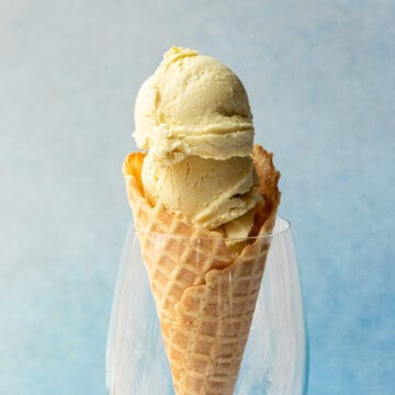
M 137 90 L 173 44 L 249 92 L 282 171 L 309 394 L 395 387 L 394 1 L 0 0 L 0 394 L 105 394 Z

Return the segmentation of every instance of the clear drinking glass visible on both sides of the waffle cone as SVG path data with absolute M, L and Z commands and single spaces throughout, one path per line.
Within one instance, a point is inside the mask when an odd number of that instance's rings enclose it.
M 235 395 L 306 394 L 307 335 L 291 225 L 278 217 L 272 235 L 262 237 L 270 250 Z M 106 385 L 110 395 L 174 394 L 133 226 L 126 236 L 111 314 Z

